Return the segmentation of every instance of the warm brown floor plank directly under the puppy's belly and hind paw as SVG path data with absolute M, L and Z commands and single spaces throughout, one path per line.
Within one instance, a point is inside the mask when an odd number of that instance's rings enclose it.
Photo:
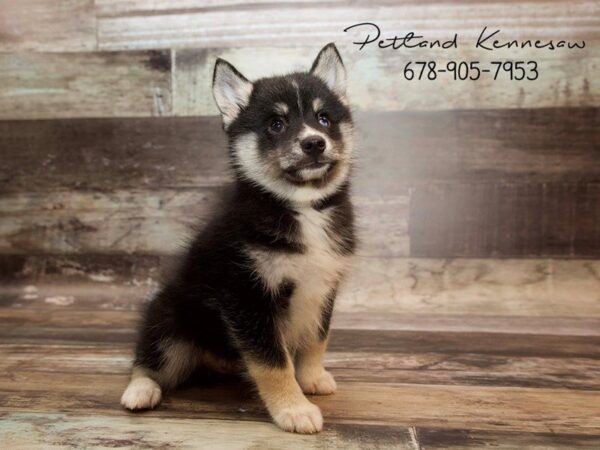
M 51 408 L 125 417 L 118 398 L 126 381 L 126 375 L 28 373 L 0 380 L 0 408 L 19 411 L 27 404 L 29 412 Z M 252 391 L 239 382 L 182 389 L 144 416 L 267 421 Z M 597 396 L 598 391 L 565 389 L 345 382 L 335 395 L 312 400 L 326 423 L 594 435 L 600 431 Z

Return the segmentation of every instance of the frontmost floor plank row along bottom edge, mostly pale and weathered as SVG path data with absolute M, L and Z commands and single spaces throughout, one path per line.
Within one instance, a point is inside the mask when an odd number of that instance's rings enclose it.
M 63 448 L 127 445 L 133 448 L 177 446 L 203 449 L 219 442 L 228 449 L 347 448 L 347 449 L 480 449 L 562 450 L 597 449 L 598 436 L 557 433 L 514 433 L 479 430 L 403 428 L 377 425 L 329 424 L 318 436 L 281 433 L 267 423 L 133 416 L 124 421 L 106 415 L 86 417 L 60 413 L 3 413 L 0 433 L 11 448 Z M 412 432 L 412 433 L 411 433 Z M 168 438 L 165 438 L 168 435 Z M 110 437 L 108 437 L 110 436 Z

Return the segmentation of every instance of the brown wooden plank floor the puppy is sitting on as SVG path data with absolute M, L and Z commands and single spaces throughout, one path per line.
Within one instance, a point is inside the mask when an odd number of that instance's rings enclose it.
M 150 290 L 101 275 L 4 284 L 2 448 L 600 448 L 600 320 L 584 303 L 570 317 L 478 315 L 467 298 L 462 316 L 353 312 L 347 292 L 326 357 L 339 390 L 313 399 L 324 431 L 299 436 L 239 380 L 197 380 L 155 411 L 123 411 Z

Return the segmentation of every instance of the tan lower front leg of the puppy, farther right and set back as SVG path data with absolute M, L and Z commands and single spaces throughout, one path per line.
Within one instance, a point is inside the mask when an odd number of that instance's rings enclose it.
M 337 388 L 333 376 L 323 367 L 327 341 L 314 341 L 296 356 L 296 379 L 305 394 L 329 395 Z

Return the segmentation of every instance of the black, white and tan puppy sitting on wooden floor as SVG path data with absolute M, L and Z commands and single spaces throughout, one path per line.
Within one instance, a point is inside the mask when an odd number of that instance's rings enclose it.
M 277 425 L 314 433 L 304 394 L 336 390 L 323 354 L 355 246 L 345 69 L 333 44 L 309 72 L 255 82 L 219 59 L 213 94 L 233 194 L 148 305 L 121 403 L 153 408 L 199 367 L 245 372 Z

